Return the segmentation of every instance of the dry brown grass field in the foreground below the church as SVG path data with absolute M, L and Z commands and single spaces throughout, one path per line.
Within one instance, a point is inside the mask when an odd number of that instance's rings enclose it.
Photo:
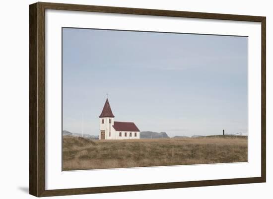
M 247 162 L 247 136 L 90 140 L 63 136 L 63 170 Z

